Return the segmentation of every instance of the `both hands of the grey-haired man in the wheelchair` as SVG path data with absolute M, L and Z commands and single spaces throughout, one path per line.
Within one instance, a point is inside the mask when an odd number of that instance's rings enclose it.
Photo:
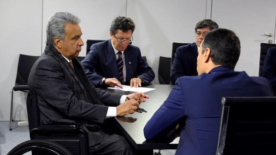
M 130 100 L 125 100 L 125 103 L 116 107 L 117 116 L 125 116 L 127 114 L 133 114 L 137 108 L 139 108 L 141 102 L 145 102 L 149 96 L 142 92 L 132 93 L 127 95 Z

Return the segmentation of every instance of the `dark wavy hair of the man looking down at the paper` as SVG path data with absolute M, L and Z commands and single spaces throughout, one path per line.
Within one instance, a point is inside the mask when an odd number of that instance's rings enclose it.
M 121 30 L 123 32 L 131 30 L 131 32 L 133 33 L 134 29 L 135 29 L 135 24 L 133 20 L 129 17 L 122 17 L 122 16 L 116 17 L 112 21 L 111 27 L 110 27 L 110 31 L 113 34 L 116 34 L 118 30 Z

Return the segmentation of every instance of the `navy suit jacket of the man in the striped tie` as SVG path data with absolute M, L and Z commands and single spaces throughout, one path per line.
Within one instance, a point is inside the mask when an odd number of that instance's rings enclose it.
M 141 57 L 141 51 L 138 47 L 129 44 L 124 51 L 126 85 L 135 77 L 143 79 L 142 85 L 149 85 L 154 79 L 155 74 L 151 67 Z M 119 71 L 116 63 L 116 57 L 111 44 L 111 39 L 93 44 L 86 58 L 82 60 L 82 66 L 88 77 L 88 80 L 97 86 L 103 78 L 117 78 L 119 80 Z

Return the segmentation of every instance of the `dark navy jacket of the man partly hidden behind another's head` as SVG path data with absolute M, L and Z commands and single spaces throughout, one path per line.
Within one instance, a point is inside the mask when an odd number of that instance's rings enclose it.
M 196 70 L 197 55 L 197 45 L 195 43 L 180 46 L 176 49 L 171 73 L 171 83 L 173 85 L 176 79 L 181 76 L 198 75 Z

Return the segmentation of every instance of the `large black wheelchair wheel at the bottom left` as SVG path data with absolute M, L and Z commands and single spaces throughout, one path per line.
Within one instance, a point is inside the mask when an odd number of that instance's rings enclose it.
M 26 142 L 22 142 L 8 152 L 7 155 L 22 155 L 29 151 L 43 151 L 47 152 L 46 154 L 55 154 L 55 155 L 73 155 L 68 149 L 62 145 L 52 142 L 49 140 L 34 139 Z M 37 153 L 41 154 L 41 153 Z

